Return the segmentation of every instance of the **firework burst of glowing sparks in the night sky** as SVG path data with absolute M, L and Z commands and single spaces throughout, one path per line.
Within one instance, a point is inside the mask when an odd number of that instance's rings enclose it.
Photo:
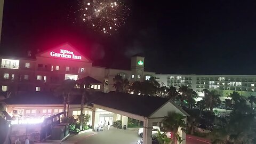
M 125 24 L 129 8 L 120 0 L 78 0 L 78 20 L 95 31 L 109 34 Z

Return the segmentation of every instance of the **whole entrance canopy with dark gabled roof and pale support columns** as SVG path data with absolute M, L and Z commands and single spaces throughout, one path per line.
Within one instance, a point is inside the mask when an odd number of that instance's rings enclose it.
M 97 98 L 96 98 L 97 97 Z M 131 117 L 143 121 L 143 143 L 151 144 L 151 135 L 153 122 L 161 122 L 169 111 L 175 111 L 183 116 L 189 116 L 186 111 L 177 106 L 173 101 L 166 98 L 149 97 L 145 95 L 135 95 L 128 93 L 109 92 L 109 93 L 95 93 L 92 101 L 93 115 L 92 126 L 98 125 L 97 120 L 99 114 L 97 109 L 103 109 Z M 186 119 L 184 119 L 186 122 Z M 127 123 L 127 120 L 122 119 L 122 125 Z M 186 133 L 179 130 L 178 132 L 182 139 L 186 139 Z M 182 144 L 185 144 L 182 141 Z

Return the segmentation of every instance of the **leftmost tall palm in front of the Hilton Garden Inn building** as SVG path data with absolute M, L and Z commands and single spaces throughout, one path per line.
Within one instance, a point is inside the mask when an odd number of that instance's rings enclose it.
M 67 108 L 67 112 L 68 112 L 70 99 L 76 93 L 75 85 L 76 85 L 75 80 L 66 79 L 61 83 L 59 87 L 57 87 L 57 89 L 55 89 L 55 93 L 57 94 L 57 96 L 61 96 L 63 98 L 64 117 L 66 117 L 67 115 L 66 106 L 68 104 L 68 108 Z

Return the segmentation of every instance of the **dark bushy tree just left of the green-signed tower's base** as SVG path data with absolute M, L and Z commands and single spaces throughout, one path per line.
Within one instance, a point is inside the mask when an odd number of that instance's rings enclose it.
M 116 92 L 128 92 L 127 90 L 130 82 L 128 81 L 127 78 L 124 79 L 122 76 L 116 75 L 113 78 L 113 81 L 114 81 L 113 87 L 116 89 Z

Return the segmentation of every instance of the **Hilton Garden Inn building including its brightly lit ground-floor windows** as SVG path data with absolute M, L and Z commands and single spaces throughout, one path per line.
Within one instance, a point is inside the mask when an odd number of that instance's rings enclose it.
M 2 90 L 0 100 L 1 97 L 2 99 L 8 97 L 10 92 L 12 92 L 11 97 L 19 97 L 15 100 L 11 98 L 11 102 L 6 101 L 6 111 L 9 115 L 20 118 L 60 113 L 62 100 L 52 103 L 49 97 L 54 97 L 54 89 L 65 79 L 90 79 L 92 89 L 108 93 L 115 91 L 113 78 L 116 75 L 121 75 L 131 82 L 145 81 L 155 76 L 155 73 L 144 71 L 144 58 L 140 55 L 134 55 L 131 58 L 130 70 L 97 67 L 69 43 L 37 53 L 35 57 L 30 53 L 25 58 L 1 56 L 0 62 L 0 89 Z M 33 95 L 39 98 L 45 97 L 47 100 L 44 102 L 44 99 L 35 100 L 37 98 L 28 99 L 28 102 L 20 100 Z M 68 115 L 79 115 L 80 106 L 81 98 L 77 98 L 76 102 L 70 105 Z M 88 111 L 87 107 L 84 111 Z M 91 114 L 90 111 L 88 114 Z

